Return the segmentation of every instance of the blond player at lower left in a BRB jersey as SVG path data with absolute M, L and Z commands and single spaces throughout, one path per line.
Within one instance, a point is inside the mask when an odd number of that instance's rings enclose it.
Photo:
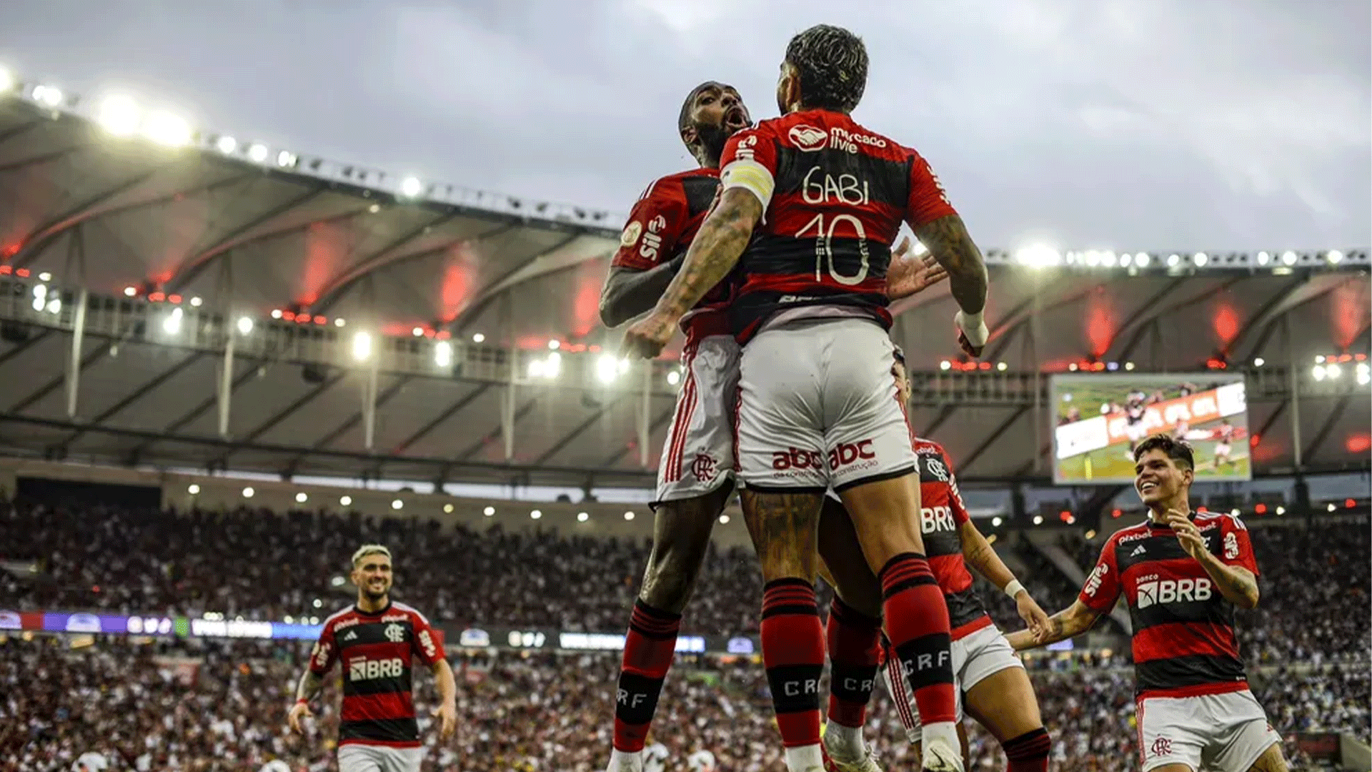
M 434 639 L 428 620 L 391 602 L 391 551 L 364 544 L 353 554 L 357 603 L 324 620 L 310 652 L 310 666 L 295 690 L 291 729 L 305 734 L 300 718 L 324 688 L 335 662 L 343 666 L 343 714 L 339 724 L 339 772 L 417 772 L 424 761 L 412 696 L 412 663 L 428 665 L 440 698 L 434 712 L 439 738 L 457 728 L 457 683 Z

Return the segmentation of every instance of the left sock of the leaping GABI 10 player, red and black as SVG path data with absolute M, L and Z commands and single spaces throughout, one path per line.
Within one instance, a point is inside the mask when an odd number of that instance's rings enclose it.
M 825 629 L 815 588 L 779 578 L 763 588 L 763 665 L 786 747 L 819 742 L 819 676 L 825 672 Z

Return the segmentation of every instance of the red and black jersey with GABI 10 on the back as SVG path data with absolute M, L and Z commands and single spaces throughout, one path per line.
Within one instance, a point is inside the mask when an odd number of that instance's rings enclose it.
M 763 121 L 730 137 L 720 166 L 723 187 L 749 190 L 764 210 L 730 310 L 741 342 L 772 315 L 807 306 L 847 306 L 889 328 L 886 268 L 900 224 L 956 214 L 918 152 L 842 113 Z

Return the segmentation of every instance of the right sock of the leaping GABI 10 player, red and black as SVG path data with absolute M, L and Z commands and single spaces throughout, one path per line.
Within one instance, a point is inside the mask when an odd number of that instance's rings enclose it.
M 892 558 L 881 569 L 886 635 L 906 666 L 923 724 L 955 718 L 948 604 L 929 560 L 918 552 Z

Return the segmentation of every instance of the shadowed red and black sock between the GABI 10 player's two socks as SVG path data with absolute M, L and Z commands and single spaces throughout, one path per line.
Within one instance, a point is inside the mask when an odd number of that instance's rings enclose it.
M 867 702 L 877 685 L 881 620 L 868 617 L 838 598 L 829 606 L 825 640 L 829 643 L 829 720 L 844 727 L 867 721 Z

